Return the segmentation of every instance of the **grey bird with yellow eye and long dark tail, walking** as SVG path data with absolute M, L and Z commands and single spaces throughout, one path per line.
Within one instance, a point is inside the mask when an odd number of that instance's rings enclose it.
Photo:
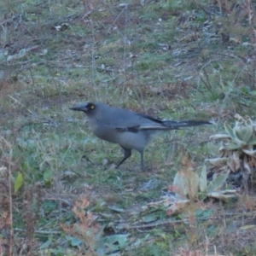
M 119 168 L 131 156 L 131 150 L 135 149 L 141 155 L 141 168 L 144 170 L 144 148 L 155 134 L 181 127 L 212 125 L 211 122 L 203 120 L 172 121 L 154 118 L 126 108 L 114 108 L 103 102 L 85 102 L 70 109 L 82 111 L 87 115 L 90 130 L 96 137 L 109 143 L 117 143 L 123 148 L 124 157 L 116 168 Z

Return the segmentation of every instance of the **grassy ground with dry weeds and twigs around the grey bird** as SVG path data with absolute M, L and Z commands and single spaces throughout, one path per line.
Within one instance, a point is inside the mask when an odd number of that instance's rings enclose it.
M 203 165 L 224 121 L 256 117 L 253 18 L 233 3 L 0 3 L 0 253 L 255 255 L 254 191 L 161 203 L 184 156 Z M 148 172 L 136 152 L 116 170 L 119 147 L 69 110 L 91 100 L 214 125 L 156 138 Z

